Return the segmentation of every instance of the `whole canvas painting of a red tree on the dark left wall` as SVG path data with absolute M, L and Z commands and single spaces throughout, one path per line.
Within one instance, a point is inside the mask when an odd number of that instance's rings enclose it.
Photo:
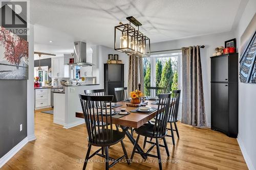
M 28 41 L 0 27 L 0 79 L 28 80 Z

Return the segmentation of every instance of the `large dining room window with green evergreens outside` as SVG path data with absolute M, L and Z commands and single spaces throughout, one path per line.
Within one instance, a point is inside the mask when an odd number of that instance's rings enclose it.
M 159 54 L 143 58 L 145 87 L 166 87 L 169 91 L 181 89 L 181 53 Z

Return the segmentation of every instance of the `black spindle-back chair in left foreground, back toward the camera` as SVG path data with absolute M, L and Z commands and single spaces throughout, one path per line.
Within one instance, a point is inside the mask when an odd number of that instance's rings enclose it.
M 84 160 L 82 169 L 86 169 L 88 160 L 95 155 L 105 158 L 105 169 L 109 169 L 124 157 L 126 160 L 128 160 L 129 158 L 123 143 L 125 132 L 120 132 L 113 129 L 111 112 L 113 95 L 94 96 L 79 94 L 79 98 L 84 114 L 84 120 L 86 122 L 89 142 L 86 159 Z M 106 103 L 110 103 L 110 108 L 103 107 L 106 105 Z M 107 114 L 108 110 L 109 114 Z M 105 114 L 103 111 L 105 111 Z M 99 119 L 105 119 L 106 125 L 108 126 L 99 126 Z M 113 159 L 109 157 L 109 147 L 118 142 L 121 142 L 124 155 L 118 159 Z M 100 147 L 100 149 L 90 156 L 92 145 L 95 147 Z M 101 154 L 99 153 L 100 151 Z M 113 161 L 112 164 L 109 164 L 110 160 Z M 130 164 L 129 161 L 127 161 L 127 163 Z

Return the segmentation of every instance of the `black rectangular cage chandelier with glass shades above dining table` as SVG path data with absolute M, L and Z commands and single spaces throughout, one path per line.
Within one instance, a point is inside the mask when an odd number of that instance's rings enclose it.
M 133 16 L 126 19 L 130 21 L 129 24 L 119 22 L 120 25 L 115 27 L 115 50 L 127 55 L 150 57 L 150 38 L 139 31 L 142 24 Z M 135 30 L 131 23 L 138 27 L 138 30 Z

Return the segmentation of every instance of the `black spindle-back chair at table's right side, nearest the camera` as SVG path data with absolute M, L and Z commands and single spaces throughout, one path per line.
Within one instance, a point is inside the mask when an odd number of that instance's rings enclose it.
M 156 114 L 156 117 L 159 117 L 159 118 L 156 119 L 155 124 L 144 124 L 139 128 L 135 128 L 135 132 L 138 134 L 138 136 L 134 144 L 131 160 L 133 159 L 135 153 L 158 158 L 159 169 L 162 169 L 161 153 L 160 153 L 159 147 L 164 147 L 167 156 L 169 156 L 169 151 L 168 151 L 167 143 L 165 140 L 165 136 L 167 135 L 166 128 L 167 128 L 167 121 L 170 114 L 169 109 L 170 107 L 172 107 L 170 106 L 170 96 L 171 96 L 171 93 L 159 94 L 159 104 L 158 104 L 158 110 Z M 136 147 L 137 147 L 140 135 L 156 139 L 156 142 L 148 141 L 153 145 L 145 153 L 136 151 Z M 164 145 L 159 144 L 158 142 L 159 138 L 163 139 Z M 151 150 L 155 147 L 155 145 L 157 147 L 157 156 L 150 154 Z

